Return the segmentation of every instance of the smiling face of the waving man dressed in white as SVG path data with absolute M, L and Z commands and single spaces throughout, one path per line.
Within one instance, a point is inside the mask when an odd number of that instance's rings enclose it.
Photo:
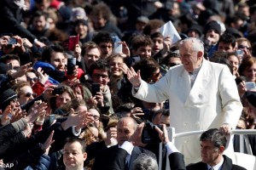
M 202 52 L 197 52 L 192 49 L 192 42 L 187 41 L 179 48 L 180 59 L 186 71 L 192 72 L 199 68 L 202 60 Z

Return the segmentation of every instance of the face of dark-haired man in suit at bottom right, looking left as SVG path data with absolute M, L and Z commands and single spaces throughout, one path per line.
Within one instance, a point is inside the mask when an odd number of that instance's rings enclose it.
M 211 141 L 201 141 L 201 161 L 210 166 L 216 165 L 222 152 Z

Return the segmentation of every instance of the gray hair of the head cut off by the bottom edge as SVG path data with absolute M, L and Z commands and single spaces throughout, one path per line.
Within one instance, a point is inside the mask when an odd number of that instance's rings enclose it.
M 133 170 L 158 170 L 157 161 L 146 154 L 137 156 L 137 159 L 132 163 Z

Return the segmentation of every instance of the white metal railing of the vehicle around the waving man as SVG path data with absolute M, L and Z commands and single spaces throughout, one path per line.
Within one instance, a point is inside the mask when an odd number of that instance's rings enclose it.
M 174 127 L 167 127 L 167 132 L 169 139 L 175 143 L 175 138 L 179 137 L 185 137 L 185 136 L 191 136 L 191 135 L 198 135 L 204 132 L 204 130 L 199 131 L 190 131 L 185 133 L 175 133 Z M 247 139 L 247 136 L 244 136 L 244 134 L 256 134 L 256 130 L 254 129 L 235 129 L 231 131 L 231 134 L 239 134 L 240 135 L 240 152 L 244 153 L 244 144 L 246 144 L 247 151 L 249 155 L 253 155 L 253 152 L 251 150 L 251 146 L 249 144 L 249 141 Z M 170 165 L 168 161 L 168 156 L 166 157 L 166 170 L 170 170 Z M 162 168 L 162 144 L 160 144 L 160 155 L 159 155 L 159 170 Z

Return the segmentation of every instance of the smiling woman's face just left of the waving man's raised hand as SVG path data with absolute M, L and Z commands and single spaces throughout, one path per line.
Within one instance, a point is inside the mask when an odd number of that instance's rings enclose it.
M 123 75 L 123 71 L 121 70 L 123 63 L 124 61 L 120 57 L 115 57 L 109 61 L 109 66 L 113 77 L 119 77 Z

